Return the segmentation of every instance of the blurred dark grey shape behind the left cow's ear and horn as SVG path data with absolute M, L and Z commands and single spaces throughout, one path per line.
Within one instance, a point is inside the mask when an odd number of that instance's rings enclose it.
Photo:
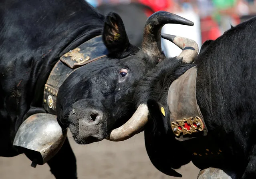
M 131 44 L 137 47 L 141 46 L 144 23 L 148 18 L 146 12 L 154 13 L 149 6 L 133 2 L 129 4 L 101 4 L 97 9 L 105 15 L 109 12 L 119 14 L 123 20 Z

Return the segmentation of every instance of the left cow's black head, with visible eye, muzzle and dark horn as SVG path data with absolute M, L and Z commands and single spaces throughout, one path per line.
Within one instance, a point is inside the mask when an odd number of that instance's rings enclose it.
M 125 140 L 134 130 L 129 125 L 134 122 L 134 117 L 129 118 L 136 109 L 133 94 L 139 80 L 165 58 L 160 33 L 168 23 L 193 25 L 177 15 L 157 12 L 145 24 L 139 49 L 129 43 L 120 16 L 107 15 L 103 42 L 109 55 L 77 69 L 58 91 L 58 119 L 70 128 L 77 143 L 89 144 L 104 138 Z

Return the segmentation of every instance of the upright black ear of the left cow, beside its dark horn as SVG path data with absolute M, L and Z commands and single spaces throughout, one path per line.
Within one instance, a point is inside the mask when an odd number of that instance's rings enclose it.
M 103 42 L 109 51 L 109 55 L 117 58 L 123 57 L 123 53 L 128 53 L 131 49 L 123 20 L 115 12 L 110 12 L 106 16 L 103 28 Z

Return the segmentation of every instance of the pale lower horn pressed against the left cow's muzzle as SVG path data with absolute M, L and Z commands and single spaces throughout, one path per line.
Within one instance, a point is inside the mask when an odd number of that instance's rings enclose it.
M 123 126 L 111 131 L 107 140 L 123 141 L 141 132 L 147 123 L 149 110 L 147 104 L 140 104 L 133 116 Z

